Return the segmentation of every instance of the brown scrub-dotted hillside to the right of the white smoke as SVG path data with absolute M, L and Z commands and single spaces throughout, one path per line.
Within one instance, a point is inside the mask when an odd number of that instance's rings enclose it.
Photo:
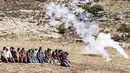
M 99 4 L 104 9 L 96 17 L 101 30 L 110 31 L 117 41 L 130 42 L 130 1 L 101 0 Z

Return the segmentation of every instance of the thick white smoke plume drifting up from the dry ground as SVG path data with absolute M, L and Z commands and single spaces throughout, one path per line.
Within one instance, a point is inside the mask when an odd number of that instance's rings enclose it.
M 54 4 L 53 2 L 46 5 L 47 15 L 50 17 L 50 24 L 53 26 L 64 25 L 65 28 L 70 26 L 74 27 L 77 35 L 88 44 L 82 54 L 102 54 L 107 61 L 110 61 L 111 58 L 105 48 L 113 47 L 125 58 L 129 58 L 124 49 L 111 39 L 110 34 L 101 32 L 95 38 L 98 34 L 98 24 L 93 21 L 93 15 L 91 13 L 78 7 L 77 4 L 79 3 L 79 0 L 74 0 L 69 6 L 65 6 L 65 4 Z

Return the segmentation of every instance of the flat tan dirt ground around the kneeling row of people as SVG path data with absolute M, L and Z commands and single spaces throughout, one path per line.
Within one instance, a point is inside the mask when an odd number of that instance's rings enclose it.
M 106 62 L 100 56 L 84 56 L 80 52 L 84 43 L 54 42 L 54 41 L 0 41 L 3 46 L 28 48 L 43 47 L 63 49 L 69 52 L 72 66 L 69 68 L 54 64 L 23 64 L 23 63 L 0 63 L 0 73 L 130 73 L 130 60 L 124 59 L 115 49 L 109 48 L 112 62 Z M 130 50 L 125 50 L 130 55 Z

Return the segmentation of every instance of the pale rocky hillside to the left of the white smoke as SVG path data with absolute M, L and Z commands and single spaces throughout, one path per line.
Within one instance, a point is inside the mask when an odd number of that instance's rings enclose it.
M 37 40 L 43 37 L 61 37 L 56 28 L 48 24 L 48 17 L 39 1 L 1 0 L 1 4 L 0 38 Z

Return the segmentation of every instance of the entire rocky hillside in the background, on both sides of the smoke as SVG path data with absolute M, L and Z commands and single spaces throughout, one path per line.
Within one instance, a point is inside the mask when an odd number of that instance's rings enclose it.
M 73 32 L 64 33 L 64 30 L 59 29 L 59 27 L 49 25 L 44 4 L 50 1 L 0 0 L 0 38 L 42 40 L 45 37 L 61 38 L 64 34 L 65 38 L 70 38 Z M 59 2 L 58 0 L 54 1 Z M 63 2 L 67 3 L 68 0 Z M 104 10 L 97 12 L 95 16 L 100 30 L 110 31 L 113 38 L 120 42 L 130 38 L 129 3 L 127 3 L 127 7 L 124 7 L 125 2 L 117 0 L 97 0 L 95 2 L 95 4 L 101 5 Z

